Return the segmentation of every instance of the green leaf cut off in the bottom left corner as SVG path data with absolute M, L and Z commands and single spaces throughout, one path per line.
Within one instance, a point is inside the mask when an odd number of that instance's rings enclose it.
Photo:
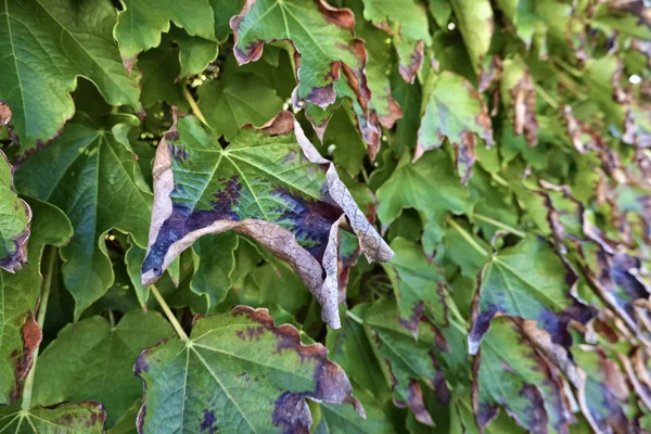
M 86 401 L 54 408 L 0 407 L 0 431 L 16 434 L 60 434 L 104 432 L 106 413 L 100 403 Z

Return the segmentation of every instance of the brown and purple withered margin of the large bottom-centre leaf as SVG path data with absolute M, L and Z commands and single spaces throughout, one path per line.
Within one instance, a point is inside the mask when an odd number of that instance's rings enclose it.
M 196 315 L 192 320 L 192 326 L 203 318 L 209 318 L 214 315 L 225 314 L 213 314 L 208 316 Z M 314 375 L 316 382 L 315 390 L 303 393 L 283 393 L 276 403 L 273 403 L 275 411 L 271 416 L 273 425 L 282 426 L 283 432 L 288 433 L 309 433 L 309 426 L 312 421 L 309 407 L 304 400 L 305 398 L 309 398 L 316 403 L 326 401 L 337 405 L 349 404 L 361 418 L 366 419 L 363 406 L 353 396 L 353 386 L 350 385 L 346 373 L 342 367 L 328 359 L 328 348 L 322 344 L 315 343 L 311 345 L 303 345 L 298 330 L 292 324 L 276 326 L 273 323 L 273 318 L 266 308 L 253 308 L 239 305 L 231 309 L 230 315 L 235 317 L 245 316 L 273 333 L 279 339 L 279 350 L 292 348 L 296 350 L 302 360 L 312 359 L 317 361 Z M 145 357 L 151 353 L 152 348 L 158 347 L 167 341 L 169 341 L 169 339 L 161 340 L 154 346 L 145 348 L 140 353 L 133 365 L 133 373 L 136 376 L 142 380 L 140 374 L 142 371 L 146 372 L 149 369 Z M 138 411 L 136 420 L 138 433 L 140 434 L 144 433 L 144 418 L 146 414 L 146 383 L 144 380 L 142 380 L 142 407 L 140 408 L 140 411 Z

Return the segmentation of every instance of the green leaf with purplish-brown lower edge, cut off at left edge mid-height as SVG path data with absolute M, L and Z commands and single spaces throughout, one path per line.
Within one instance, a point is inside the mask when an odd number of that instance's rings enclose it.
M 13 188 L 14 169 L 0 151 L 0 268 L 15 272 L 27 260 L 31 209 Z M 0 271 L 1 272 L 1 271 Z

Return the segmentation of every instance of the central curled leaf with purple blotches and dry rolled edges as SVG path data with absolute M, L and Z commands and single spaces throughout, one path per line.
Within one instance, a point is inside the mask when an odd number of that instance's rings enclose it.
M 339 328 L 337 230 L 345 217 L 369 260 L 393 255 L 289 112 L 263 129 L 242 129 L 225 150 L 195 117 L 182 117 L 158 145 L 154 178 L 145 285 L 200 237 L 234 230 L 286 260 L 321 304 L 323 320 Z

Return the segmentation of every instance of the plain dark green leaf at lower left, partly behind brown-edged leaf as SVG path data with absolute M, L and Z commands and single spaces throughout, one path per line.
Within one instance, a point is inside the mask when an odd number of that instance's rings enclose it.
M 157 312 L 126 314 L 116 326 L 97 316 L 68 324 L 38 358 L 33 404 L 98 399 L 113 426 L 141 396 L 132 370 L 138 355 L 171 334 Z

